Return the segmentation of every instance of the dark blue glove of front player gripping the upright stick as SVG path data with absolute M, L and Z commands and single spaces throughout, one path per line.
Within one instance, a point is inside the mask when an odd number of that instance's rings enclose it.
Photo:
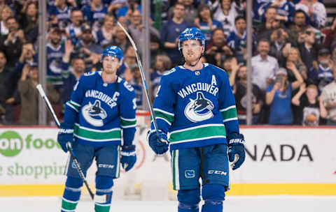
M 159 135 L 159 137 L 158 137 Z M 156 131 L 148 131 L 147 132 L 147 139 L 149 146 L 151 146 L 151 149 L 158 154 L 161 155 L 165 153 L 168 150 L 168 139 L 165 132 L 162 132 L 161 130 L 158 131 L 158 134 L 156 134 Z

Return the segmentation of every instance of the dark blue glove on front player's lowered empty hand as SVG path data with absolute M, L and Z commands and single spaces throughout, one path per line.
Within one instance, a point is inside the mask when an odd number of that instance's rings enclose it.
M 245 140 L 242 134 L 231 134 L 228 136 L 229 140 L 229 161 L 232 162 L 232 170 L 238 169 L 245 160 Z

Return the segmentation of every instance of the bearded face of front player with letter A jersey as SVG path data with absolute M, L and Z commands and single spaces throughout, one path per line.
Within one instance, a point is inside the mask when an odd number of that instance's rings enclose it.
M 182 43 L 182 52 L 186 63 L 193 63 L 200 59 L 204 47 L 198 40 L 185 40 Z

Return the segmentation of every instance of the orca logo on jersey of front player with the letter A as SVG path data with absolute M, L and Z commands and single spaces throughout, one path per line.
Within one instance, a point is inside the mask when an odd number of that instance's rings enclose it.
M 186 117 L 193 122 L 204 121 L 214 117 L 212 109 L 214 109 L 214 104 L 211 100 L 204 98 L 202 92 L 197 92 L 197 98 L 195 100 L 190 99 L 186 109 L 184 109 L 184 114 Z

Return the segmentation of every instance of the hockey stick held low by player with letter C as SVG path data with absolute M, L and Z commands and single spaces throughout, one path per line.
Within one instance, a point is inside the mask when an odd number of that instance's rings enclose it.
M 48 100 L 48 97 L 45 95 L 41 84 L 36 85 L 36 89 L 38 90 L 38 93 L 40 93 L 41 98 L 43 98 L 45 105 L 47 106 L 47 108 L 49 109 L 50 113 L 52 114 L 52 118 L 54 119 L 54 121 L 55 121 L 55 123 L 57 125 L 57 128 L 59 128 L 60 125 L 59 125 L 59 121 L 57 119 L 57 116 L 56 116 L 56 114 L 54 112 L 54 109 L 52 109 L 52 106 L 51 106 L 51 104 L 50 104 L 50 102 Z M 71 156 L 71 158 L 73 160 L 73 163 L 76 166 L 78 174 L 79 174 L 80 178 L 84 181 L 85 186 L 87 188 L 87 191 L 89 192 L 90 197 L 93 200 L 94 194 L 93 194 L 92 190 L 90 189 L 89 185 L 87 184 L 87 181 L 85 179 L 85 176 L 83 174 L 82 169 L 80 169 L 79 163 L 78 163 L 78 161 L 76 159 L 75 153 L 73 153 L 73 149 L 71 147 L 71 143 L 70 142 L 66 143 L 66 149 L 68 149 L 68 151 L 70 153 L 70 156 Z

